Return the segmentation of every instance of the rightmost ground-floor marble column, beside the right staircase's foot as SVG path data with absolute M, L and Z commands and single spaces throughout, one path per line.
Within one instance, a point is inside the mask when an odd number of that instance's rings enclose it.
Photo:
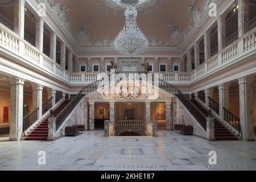
M 238 79 L 240 98 L 240 122 L 243 140 L 254 140 L 253 120 L 253 78 L 243 76 Z

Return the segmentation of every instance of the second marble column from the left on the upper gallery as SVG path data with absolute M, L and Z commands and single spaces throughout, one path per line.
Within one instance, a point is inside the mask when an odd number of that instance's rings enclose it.
M 35 36 L 35 47 L 40 52 L 43 52 L 44 43 L 44 19 L 42 17 L 36 18 L 36 36 Z

